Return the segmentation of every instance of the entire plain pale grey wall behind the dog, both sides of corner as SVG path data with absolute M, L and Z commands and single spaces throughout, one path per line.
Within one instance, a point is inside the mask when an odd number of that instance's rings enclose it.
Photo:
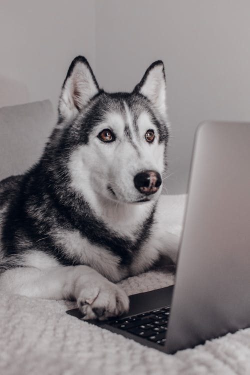
M 1 0 L 0 46 L 0 106 L 50 98 L 56 107 L 77 54 L 110 91 L 131 90 L 161 58 L 171 193 L 186 189 L 198 122 L 250 119 L 248 0 Z

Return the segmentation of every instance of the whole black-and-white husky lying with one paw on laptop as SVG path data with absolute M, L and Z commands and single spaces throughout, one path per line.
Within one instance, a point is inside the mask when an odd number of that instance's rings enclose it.
M 76 57 L 41 158 L 0 183 L 0 290 L 73 298 L 85 319 L 127 311 L 115 282 L 176 257 L 156 205 L 167 138 L 162 61 L 107 93 Z

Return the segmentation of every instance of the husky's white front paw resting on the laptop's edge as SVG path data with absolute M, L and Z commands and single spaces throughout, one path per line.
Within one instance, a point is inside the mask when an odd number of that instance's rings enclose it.
M 123 289 L 105 280 L 86 283 L 77 298 L 83 319 L 104 320 L 128 311 L 129 299 Z

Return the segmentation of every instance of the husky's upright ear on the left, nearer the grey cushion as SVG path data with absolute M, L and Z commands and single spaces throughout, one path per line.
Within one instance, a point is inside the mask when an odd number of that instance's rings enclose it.
M 59 121 L 74 117 L 99 92 L 92 69 L 83 56 L 71 62 L 61 88 L 58 104 Z

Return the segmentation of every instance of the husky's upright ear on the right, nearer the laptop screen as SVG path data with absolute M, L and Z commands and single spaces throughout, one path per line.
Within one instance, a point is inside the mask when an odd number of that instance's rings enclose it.
M 163 116 L 166 115 L 166 80 L 161 60 L 147 68 L 141 81 L 134 87 L 134 92 L 146 96 Z

